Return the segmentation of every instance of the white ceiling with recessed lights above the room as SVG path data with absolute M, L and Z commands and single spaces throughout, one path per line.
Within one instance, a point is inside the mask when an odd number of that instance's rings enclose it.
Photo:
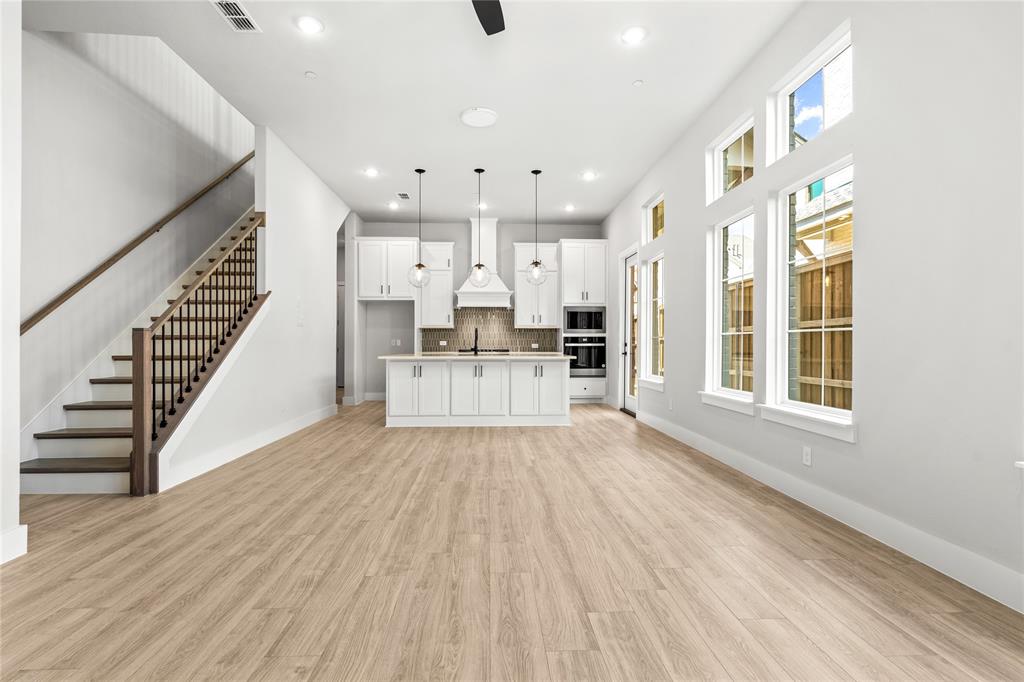
M 366 220 L 416 220 L 416 167 L 428 171 L 424 219 L 475 214 L 482 167 L 485 215 L 531 220 L 541 168 L 542 220 L 600 222 L 796 4 L 506 1 L 506 31 L 489 38 L 469 0 L 250 0 L 261 34 L 232 33 L 202 0 L 36 0 L 25 25 L 162 38 Z M 304 14 L 325 32 L 299 33 Z M 624 45 L 636 25 L 647 40 Z M 469 106 L 496 110 L 497 125 L 462 125 Z M 390 211 L 396 191 L 413 200 Z

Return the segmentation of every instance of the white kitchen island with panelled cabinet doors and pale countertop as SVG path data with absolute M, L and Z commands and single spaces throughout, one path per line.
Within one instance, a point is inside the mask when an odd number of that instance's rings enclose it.
M 381 355 L 387 426 L 568 426 L 569 360 L 560 352 Z

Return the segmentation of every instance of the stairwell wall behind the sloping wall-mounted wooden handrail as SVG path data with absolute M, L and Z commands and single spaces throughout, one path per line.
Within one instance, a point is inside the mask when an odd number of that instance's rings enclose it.
M 25 32 L 24 59 L 28 316 L 251 152 L 253 126 L 156 38 Z M 252 204 L 249 164 L 30 330 L 22 425 Z

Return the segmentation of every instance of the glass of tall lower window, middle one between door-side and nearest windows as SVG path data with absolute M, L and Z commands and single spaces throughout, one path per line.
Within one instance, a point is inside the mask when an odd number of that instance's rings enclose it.
M 716 274 L 720 318 L 716 354 L 719 373 L 714 388 L 754 390 L 754 215 L 719 230 Z

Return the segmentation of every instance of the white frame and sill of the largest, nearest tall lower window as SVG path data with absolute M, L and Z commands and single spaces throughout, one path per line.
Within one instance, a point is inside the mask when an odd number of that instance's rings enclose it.
M 761 406 L 761 416 L 769 421 L 854 442 L 856 438 L 854 427 L 856 397 L 854 397 L 853 402 L 854 409 L 842 410 L 793 400 L 788 395 L 790 260 L 787 246 L 790 239 L 790 195 L 850 166 L 854 166 L 853 155 L 846 155 L 842 159 L 805 175 L 779 190 L 774 200 L 774 210 L 769 208 L 769 213 L 773 214 L 775 223 L 768 239 L 770 272 L 774 274 L 770 275 L 771 289 L 767 292 L 769 305 L 767 335 L 769 359 L 766 367 L 768 370 L 768 390 L 765 394 L 765 403 Z M 854 220 L 856 221 L 856 195 L 854 196 Z M 855 248 L 853 253 L 856 253 Z M 856 264 L 855 258 L 854 264 Z M 855 276 L 854 282 L 856 281 Z M 854 314 L 855 316 L 856 314 Z M 854 364 L 854 386 L 856 386 L 856 367 Z

